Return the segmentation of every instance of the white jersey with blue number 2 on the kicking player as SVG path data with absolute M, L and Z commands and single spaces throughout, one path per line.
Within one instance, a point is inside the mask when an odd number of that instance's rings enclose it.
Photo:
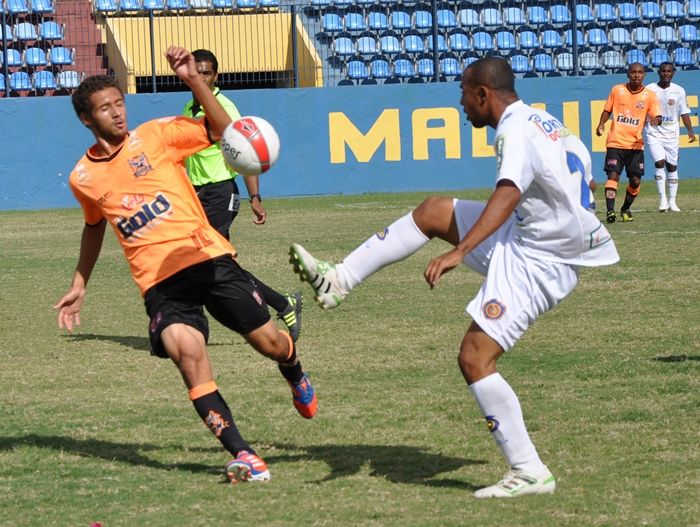
M 586 209 L 591 159 L 586 146 L 549 113 L 517 101 L 496 128 L 497 181 L 522 193 L 513 235 L 523 253 L 570 265 L 619 261 L 610 233 Z

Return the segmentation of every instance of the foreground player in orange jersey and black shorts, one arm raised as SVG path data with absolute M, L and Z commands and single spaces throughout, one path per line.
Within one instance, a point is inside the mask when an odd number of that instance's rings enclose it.
M 303 417 L 315 415 L 317 398 L 294 342 L 270 319 L 256 284 L 235 261 L 233 247 L 209 225 L 184 172 L 182 160 L 218 141 L 231 118 L 191 53 L 170 47 L 166 57 L 204 107 L 205 120 L 166 118 L 129 132 L 124 94 L 106 75 L 88 77 L 72 96 L 78 118 L 96 143 L 70 176 L 85 226 L 71 287 L 54 306 L 58 325 L 72 331 L 80 324 L 109 222 L 144 297 L 152 353 L 175 363 L 195 410 L 233 456 L 227 476 L 233 483 L 267 481 L 266 463 L 241 436 L 213 380 L 203 308 L 279 364 Z

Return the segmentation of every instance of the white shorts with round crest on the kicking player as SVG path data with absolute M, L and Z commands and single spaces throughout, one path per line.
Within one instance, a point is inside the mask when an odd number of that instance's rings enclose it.
M 460 239 L 484 207 L 475 201 L 454 201 Z M 539 315 L 566 298 L 578 282 L 575 266 L 523 252 L 512 235 L 514 219 L 507 220 L 463 260 L 486 277 L 467 313 L 504 351 L 515 345 Z

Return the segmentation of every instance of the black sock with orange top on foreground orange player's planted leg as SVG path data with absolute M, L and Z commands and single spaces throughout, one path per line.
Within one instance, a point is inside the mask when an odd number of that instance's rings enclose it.
M 241 450 L 255 453 L 241 437 L 238 428 L 236 428 L 236 423 L 233 421 L 231 410 L 219 393 L 214 381 L 192 388 L 190 390 L 190 400 L 204 424 L 207 425 L 209 430 L 221 441 L 224 448 L 234 457 Z

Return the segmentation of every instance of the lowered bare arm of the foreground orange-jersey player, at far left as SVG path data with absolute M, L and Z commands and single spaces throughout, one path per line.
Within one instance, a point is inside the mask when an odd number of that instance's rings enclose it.
M 95 268 L 95 263 L 102 249 L 105 227 L 107 222 L 102 220 L 96 225 L 85 225 L 80 239 L 80 256 L 73 275 L 70 289 L 54 305 L 58 310 L 58 327 L 73 331 L 74 326 L 80 325 L 80 308 L 85 299 L 85 288 Z

